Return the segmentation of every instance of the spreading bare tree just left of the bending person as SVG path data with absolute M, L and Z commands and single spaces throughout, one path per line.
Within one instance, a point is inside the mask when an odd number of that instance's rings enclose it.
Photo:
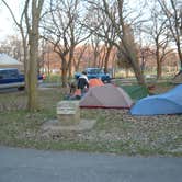
M 66 87 L 68 71 L 71 73 L 76 46 L 89 36 L 80 24 L 80 0 L 50 0 L 50 14 L 46 16 L 44 38 L 54 45 L 54 52 L 60 57 L 62 87 Z

